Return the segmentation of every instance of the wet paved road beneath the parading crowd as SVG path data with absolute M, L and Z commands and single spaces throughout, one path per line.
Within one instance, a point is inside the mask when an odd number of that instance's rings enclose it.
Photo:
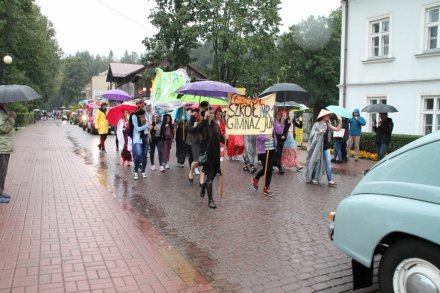
M 147 218 L 219 292 L 351 291 L 350 259 L 329 240 L 327 216 L 361 172 L 334 170 L 338 188 L 305 184 L 304 173 L 274 174 L 274 197 L 268 198 L 251 188 L 241 163 L 227 161 L 225 195 L 219 197 L 221 177 L 216 177 L 212 210 L 199 196 L 197 177 L 188 182 L 187 164 L 177 167 L 174 147 L 171 169 L 150 171 L 148 163 L 148 178 L 134 181 L 131 167 L 122 166 L 116 153 L 115 135 L 108 137 L 104 154 L 99 136 L 57 123 L 121 207 Z M 376 282 L 357 292 L 377 292 Z

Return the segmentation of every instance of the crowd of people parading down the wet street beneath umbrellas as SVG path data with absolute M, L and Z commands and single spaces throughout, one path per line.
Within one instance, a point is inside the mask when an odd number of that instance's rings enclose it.
M 171 146 L 174 142 L 178 167 L 183 168 L 185 161 L 188 161 L 190 183 L 194 182 L 196 175 L 200 175 L 200 196 L 207 195 L 210 208 L 216 208 L 212 188 L 215 178 L 222 175 L 222 157 L 242 161 L 243 171 L 252 174 L 252 187 L 255 190 L 259 189 L 260 179 L 264 177 L 261 188 L 269 197 L 273 196 L 270 186 L 275 170 L 283 175 L 285 168 L 293 168 L 297 172 L 304 168 L 299 162 L 295 140 L 295 129 L 303 128 L 303 121 L 301 116 L 295 117 L 293 110 L 276 110 L 270 135 L 227 136 L 225 112 L 220 107 L 210 107 L 206 101 L 188 109 L 179 109 L 174 121 L 170 114 L 160 116 L 153 113 L 151 106 L 146 105 L 143 100 L 139 100 L 136 105 L 137 109 L 133 113 L 124 113 L 116 130 L 117 140 L 123 145 L 122 164 L 131 165 L 133 162 L 134 180 L 139 179 L 139 173 L 142 178 L 147 177 L 147 154 L 151 171 L 157 170 L 156 153 L 159 171 L 165 172 L 169 169 Z M 100 134 L 98 148 L 103 152 L 106 149 L 108 129 L 106 107 L 105 103 L 101 105 L 95 121 Z M 325 174 L 328 186 L 336 187 L 331 164 L 347 162 L 353 146 L 354 161 L 359 159 L 360 136 L 365 119 L 360 116 L 358 109 L 352 115 L 351 119 L 347 119 L 325 109 L 320 111 L 309 134 L 305 163 L 306 183 L 320 184 Z M 392 128 L 392 120 L 386 113 L 381 113 L 379 124 L 373 127 L 377 133 L 379 158 L 387 150 Z M 333 158 L 330 154 L 331 145 L 334 148 Z

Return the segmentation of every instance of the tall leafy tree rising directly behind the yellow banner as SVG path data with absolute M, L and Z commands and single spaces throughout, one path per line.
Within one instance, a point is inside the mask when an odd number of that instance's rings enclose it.
M 264 50 L 274 48 L 281 1 L 212 0 L 197 3 L 202 37 L 212 43 L 214 62 L 210 74 L 216 80 L 235 85 L 249 76 L 247 66 L 258 67 L 255 56 L 267 56 Z M 263 48 L 266 45 L 269 47 Z

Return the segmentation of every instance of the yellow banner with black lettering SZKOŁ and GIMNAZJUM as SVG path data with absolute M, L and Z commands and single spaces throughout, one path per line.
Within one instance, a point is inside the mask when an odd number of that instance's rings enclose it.
M 272 134 L 275 94 L 261 99 L 229 95 L 226 111 L 227 134 Z

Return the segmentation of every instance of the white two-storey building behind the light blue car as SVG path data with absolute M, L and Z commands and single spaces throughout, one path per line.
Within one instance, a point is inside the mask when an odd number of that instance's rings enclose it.
M 340 104 L 395 106 L 393 133 L 440 130 L 440 0 L 342 0 Z M 372 130 L 374 114 L 364 131 Z

